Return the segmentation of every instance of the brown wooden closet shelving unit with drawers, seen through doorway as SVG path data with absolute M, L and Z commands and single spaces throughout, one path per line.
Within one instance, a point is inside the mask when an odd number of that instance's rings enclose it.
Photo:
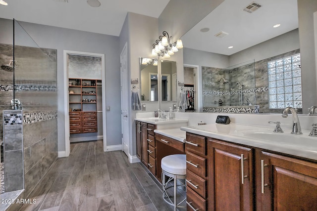
M 70 134 L 97 132 L 97 80 L 68 79 Z

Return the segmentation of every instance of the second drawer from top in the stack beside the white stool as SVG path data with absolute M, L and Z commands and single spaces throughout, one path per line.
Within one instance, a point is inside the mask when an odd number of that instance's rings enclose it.
M 198 174 L 199 176 L 207 176 L 207 159 L 202 158 L 190 152 L 186 152 L 186 169 Z

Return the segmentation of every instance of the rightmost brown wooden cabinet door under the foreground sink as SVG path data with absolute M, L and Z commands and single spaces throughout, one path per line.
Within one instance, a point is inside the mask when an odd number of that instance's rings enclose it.
M 262 198 L 259 210 L 317 210 L 316 163 L 262 152 L 257 165 L 262 169 L 257 173 L 257 180 L 261 181 L 261 187 L 257 185 L 257 188 L 261 190 Z

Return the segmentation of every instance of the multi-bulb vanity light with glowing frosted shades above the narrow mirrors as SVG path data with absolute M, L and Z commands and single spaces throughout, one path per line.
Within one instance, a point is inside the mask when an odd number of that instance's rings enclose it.
M 169 37 L 166 31 L 163 31 L 163 36 L 159 36 L 159 40 L 153 44 L 152 56 L 161 56 L 164 58 L 169 58 L 174 52 L 177 52 L 178 49 L 183 48 L 182 40 L 177 40 L 177 42 L 169 43 L 169 40 L 172 37 Z

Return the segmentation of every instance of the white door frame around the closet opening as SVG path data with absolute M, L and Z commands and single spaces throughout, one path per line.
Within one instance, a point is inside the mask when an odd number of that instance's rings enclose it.
M 106 71 L 105 71 L 105 54 L 91 53 L 73 50 L 64 50 L 64 122 L 65 122 L 65 151 L 58 152 L 58 157 L 68 157 L 70 154 L 70 131 L 69 131 L 69 96 L 68 96 L 68 54 L 80 56 L 95 56 L 102 58 L 102 98 L 103 98 L 103 145 L 104 152 L 107 149 L 106 140 Z

